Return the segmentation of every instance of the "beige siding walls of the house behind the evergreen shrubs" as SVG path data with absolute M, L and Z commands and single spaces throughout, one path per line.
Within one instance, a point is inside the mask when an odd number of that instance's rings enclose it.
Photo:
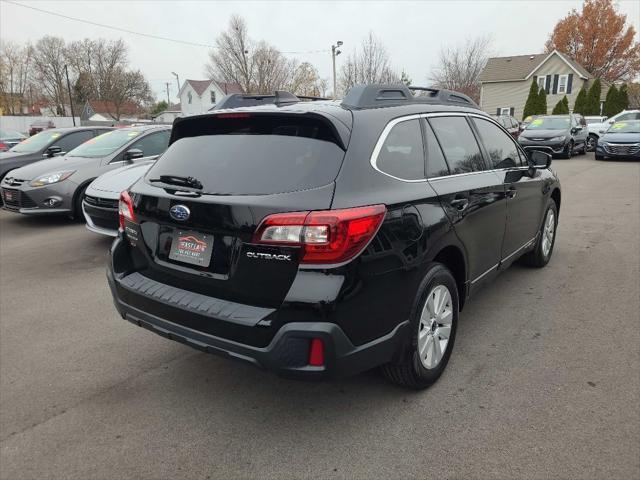
M 495 82 L 483 83 L 481 95 L 481 108 L 487 113 L 494 115 L 498 108 L 513 107 L 514 116 L 522 120 L 524 104 L 529 95 L 531 82 L 533 77 L 542 75 L 568 75 L 573 74 L 571 85 L 571 93 L 566 94 L 569 100 L 569 109 L 573 110 L 573 105 L 578 96 L 580 88 L 585 84 L 585 80 L 580 76 L 559 56 L 553 55 L 534 72 L 527 80 L 515 82 Z M 551 87 L 547 94 L 547 112 L 551 113 L 553 107 L 565 96 L 564 93 L 553 94 L 553 77 Z

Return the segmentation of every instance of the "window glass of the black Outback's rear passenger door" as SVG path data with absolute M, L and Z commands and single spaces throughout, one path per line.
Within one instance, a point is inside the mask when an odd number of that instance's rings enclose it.
M 478 142 L 465 117 L 433 117 L 429 123 L 440 141 L 452 175 L 484 170 Z

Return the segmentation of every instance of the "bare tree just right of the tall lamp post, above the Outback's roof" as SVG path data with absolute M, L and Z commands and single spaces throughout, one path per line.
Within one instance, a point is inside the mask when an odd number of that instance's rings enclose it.
M 340 74 L 343 92 L 356 84 L 400 83 L 400 75 L 391 67 L 389 54 L 373 32 L 364 39 L 360 50 L 347 57 Z

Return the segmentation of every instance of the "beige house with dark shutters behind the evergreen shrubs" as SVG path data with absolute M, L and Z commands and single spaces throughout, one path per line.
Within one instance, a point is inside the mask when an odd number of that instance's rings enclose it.
M 517 55 L 490 58 L 480 74 L 480 108 L 490 114 L 513 115 L 522 120 L 522 111 L 531 82 L 547 92 L 547 112 L 565 95 L 573 110 L 580 89 L 589 88 L 593 75 L 563 53 Z M 602 97 L 607 87 L 602 86 Z

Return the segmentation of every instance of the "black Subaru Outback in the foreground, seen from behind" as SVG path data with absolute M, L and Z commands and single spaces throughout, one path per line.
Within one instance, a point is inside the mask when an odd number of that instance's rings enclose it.
M 433 383 L 467 298 L 549 261 L 560 186 L 468 97 L 423 90 L 176 120 L 120 198 L 119 313 L 282 375 Z

